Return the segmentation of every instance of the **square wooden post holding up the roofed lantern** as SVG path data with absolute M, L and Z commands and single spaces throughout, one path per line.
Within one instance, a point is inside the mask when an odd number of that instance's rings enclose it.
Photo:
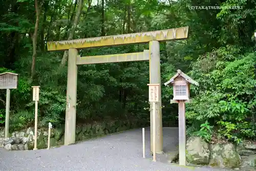
M 179 102 L 179 165 L 186 165 L 186 121 L 185 102 Z

